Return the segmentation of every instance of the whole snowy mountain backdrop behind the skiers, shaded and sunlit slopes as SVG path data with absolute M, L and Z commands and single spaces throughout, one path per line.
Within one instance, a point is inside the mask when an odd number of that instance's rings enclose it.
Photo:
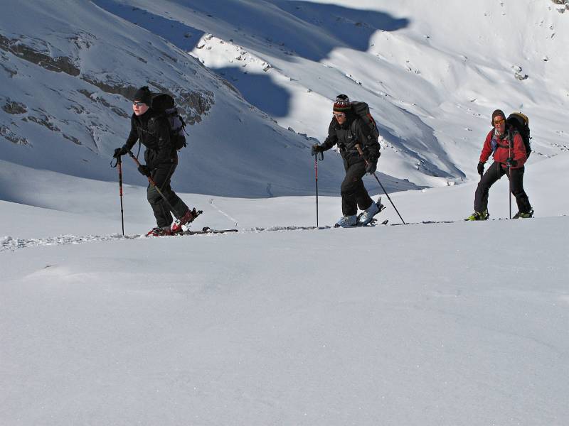
M 565 6 L 435 3 L 7 2 L 0 158 L 114 179 L 109 155 L 147 82 L 175 94 L 192 124 L 175 176 L 184 191 L 308 194 L 308 138 L 326 136 L 341 92 L 370 104 L 390 190 L 475 178 L 497 107 L 530 116 L 532 162 L 566 150 Z M 323 193 L 335 193 L 339 164 L 327 156 Z

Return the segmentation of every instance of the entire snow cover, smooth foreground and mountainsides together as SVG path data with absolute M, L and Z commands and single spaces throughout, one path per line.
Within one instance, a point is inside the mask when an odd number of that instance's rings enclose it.
M 569 424 L 563 5 L 3 6 L 1 425 Z M 25 49 L 22 59 L 22 45 L 43 62 Z M 78 76 L 48 69 L 61 55 Z M 201 114 L 188 103 L 201 121 L 174 187 L 203 209 L 191 229 L 238 233 L 144 237 L 154 225 L 144 178 L 124 163 L 122 235 L 108 163 L 128 121 L 112 107 L 128 111 L 129 99 L 100 83 L 154 75 L 213 99 Z M 171 85 L 180 78 L 187 87 Z M 324 137 L 340 92 L 378 117 L 378 176 L 408 225 L 366 177 L 385 226 L 286 229 L 316 224 L 309 137 Z M 494 220 L 464 222 L 489 114 L 522 105 L 536 217 L 499 220 L 509 216 L 503 178 L 490 192 Z M 271 171 L 279 179 L 265 179 Z M 341 214 L 342 177 L 326 153 L 321 226 Z

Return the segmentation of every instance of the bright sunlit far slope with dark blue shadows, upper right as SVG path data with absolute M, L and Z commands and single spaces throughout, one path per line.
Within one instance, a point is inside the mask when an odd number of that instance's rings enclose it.
M 322 139 L 336 94 L 368 102 L 381 170 L 419 185 L 476 178 L 498 107 L 531 117 L 532 161 L 566 150 L 568 15 L 549 1 L 97 4 L 191 49 L 284 127 Z

